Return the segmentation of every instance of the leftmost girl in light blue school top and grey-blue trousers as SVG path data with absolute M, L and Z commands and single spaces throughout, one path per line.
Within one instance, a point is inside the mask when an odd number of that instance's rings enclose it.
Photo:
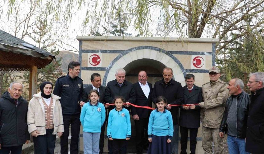
M 83 125 L 84 154 L 99 154 L 101 127 L 105 121 L 104 105 L 98 102 L 99 92 L 89 92 L 90 101 L 83 105 L 80 121 Z

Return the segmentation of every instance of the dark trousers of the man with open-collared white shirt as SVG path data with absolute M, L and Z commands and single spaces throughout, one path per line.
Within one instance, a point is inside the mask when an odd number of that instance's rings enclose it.
M 137 154 L 142 154 L 143 148 L 149 146 L 148 123 L 148 118 L 135 120 Z

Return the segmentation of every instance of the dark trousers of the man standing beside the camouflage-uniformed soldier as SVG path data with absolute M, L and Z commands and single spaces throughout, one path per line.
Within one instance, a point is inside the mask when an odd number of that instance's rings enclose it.
M 187 154 L 187 142 L 188 142 L 188 130 L 190 130 L 190 150 L 191 154 L 195 154 L 196 149 L 196 137 L 198 133 L 198 128 L 186 128 L 180 126 L 181 131 L 181 154 Z

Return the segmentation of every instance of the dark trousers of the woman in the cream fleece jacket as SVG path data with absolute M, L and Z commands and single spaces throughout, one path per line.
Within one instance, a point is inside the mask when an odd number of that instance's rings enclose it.
M 46 135 L 33 137 L 35 154 L 53 154 L 56 135 L 52 135 L 53 129 L 46 129 Z

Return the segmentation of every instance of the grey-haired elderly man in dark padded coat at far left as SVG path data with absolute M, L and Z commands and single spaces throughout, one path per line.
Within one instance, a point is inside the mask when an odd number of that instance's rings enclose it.
M 23 85 L 12 82 L 0 98 L 0 153 L 21 154 L 30 135 L 27 126 L 28 102 L 21 96 Z

